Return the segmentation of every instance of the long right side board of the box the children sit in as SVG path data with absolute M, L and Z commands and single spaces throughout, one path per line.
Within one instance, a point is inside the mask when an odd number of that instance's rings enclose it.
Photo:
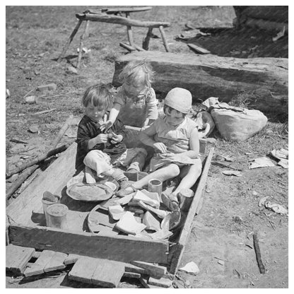
M 177 251 L 174 253 L 174 257 L 172 258 L 171 265 L 170 265 L 171 274 L 175 274 L 178 266 L 180 266 L 182 254 L 184 253 L 184 248 L 187 244 L 189 233 L 191 230 L 192 221 L 194 219 L 194 216 L 199 206 L 199 203 L 201 201 L 201 198 L 203 197 L 203 190 L 204 190 L 204 187 L 206 186 L 206 180 L 208 176 L 209 167 L 211 166 L 211 158 L 213 156 L 213 151 L 214 151 L 214 148 L 212 147 L 206 158 L 206 162 L 204 164 L 204 168 L 202 170 L 201 177 L 197 185 L 196 192 L 194 194 L 194 199 L 189 208 L 189 212 L 185 220 L 184 227 L 182 228 L 179 241 L 177 242 Z

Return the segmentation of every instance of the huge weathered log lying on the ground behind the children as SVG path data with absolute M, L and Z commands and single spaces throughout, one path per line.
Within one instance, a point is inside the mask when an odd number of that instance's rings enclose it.
M 251 107 L 263 112 L 288 113 L 288 59 L 237 59 L 216 55 L 134 52 L 115 61 L 113 85 L 130 61 L 146 60 L 155 72 L 153 88 L 165 95 L 175 87 L 186 88 L 194 102 L 211 96 L 230 102 L 240 92 L 254 95 Z

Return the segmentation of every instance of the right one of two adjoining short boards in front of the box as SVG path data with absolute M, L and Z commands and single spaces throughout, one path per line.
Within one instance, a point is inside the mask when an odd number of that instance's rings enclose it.
M 106 288 L 117 288 L 124 275 L 124 265 L 120 262 L 98 259 L 98 266 L 92 276 L 94 285 Z

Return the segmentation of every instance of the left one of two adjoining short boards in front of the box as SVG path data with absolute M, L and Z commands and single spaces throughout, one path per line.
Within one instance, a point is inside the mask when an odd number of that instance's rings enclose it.
M 79 258 L 68 274 L 69 279 L 83 283 L 92 283 L 92 276 L 98 266 L 98 262 L 98 259 L 92 257 Z

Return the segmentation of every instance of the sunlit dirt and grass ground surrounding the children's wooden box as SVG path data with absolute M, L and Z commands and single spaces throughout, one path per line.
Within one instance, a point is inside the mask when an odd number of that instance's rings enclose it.
M 76 25 L 75 13 L 86 6 L 6 6 L 6 158 L 9 169 L 32 160 L 45 150 L 70 114 L 83 115 L 81 96 L 94 83 L 110 83 L 114 60 L 126 50 L 119 42 L 127 42 L 122 25 L 90 23 L 84 47 L 90 49 L 81 61 L 78 73 L 69 72 L 76 66 L 77 48 L 82 29 L 73 39 L 66 59 L 57 58 Z M 97 8 L 97 6 L 95 7 Z M 225 57 L 286 57 L 288 36 L 272 42 L 275 33 L 232 28 L 235 13 L 232 6 L 158 6 L 151 11 L 136 13 L 141 20 L 163 20 L 172 23 L 165 30 L 172 52 L 194 54 L 188 40 L 175 40 L 186 33 L 185 24 L 207 30 L 211 35 L 191 37 L 189 42 L 201 45 L 212 54 Z M 153 30 L 155 35 L 159 32 Z M 134 28 L 134 40 L 141 45 L 146 29 Z M 151 39 L 151 50 L 164 51 L 161 39 Z M 56 83 L 57 89 L 40 92 L 37 86 Z M 25 104 L 24 96 L 36 95 L 36 104 Z M 207 97 L 204 97 L 204 100 Z M 35 114 L 52 110 L 45 114 Z M 262 167 L 249 170 L 249 162 L 269 154 L 273 149 L 288 148 L 288 116 L 266 114 L 266 127 L 247 141 L 223 140 L 217 131 L 215 153 L 199 215 L 195 216 L 192 233 L 182 257 L 182 264 L 194 261 L 199 274 L 178 272 L 191 288 L 288 288 L 288 216 L 259 207 L 259 199 L 269 196 L 273 203 L 288 208 L 288 170 L 283 167 Z M 36 133 L 28 129 L 35 125 Z M 73 141 L 76 129 L 66 133 L 61 143 Z M 14 143 L 19 139 L 27 143 Z M 229 155 L 226 162 L 220 155 Z M 226 176 L 222 170 L 241 170 L 241 177 Z M 6 182 L 6 189 L 11 183 Z M 17 196 L 15 194 L 14 196 Z M 13 198 L 11 199 L 13 201 Z M 266 274 L 259 274 L 254 253 L 252 232 L 259 233 L 261 257 Z M 219 261 L 222 262 L 219 263 Z M 86 284 L 69 283 L 66 273 L 20 281 L 6 277 L 7 288 L 87 288 Z M 179 285 L 183 282 L 178 280 Z M 125 281 L 122 288 L 141 288 L 136 280 Z

